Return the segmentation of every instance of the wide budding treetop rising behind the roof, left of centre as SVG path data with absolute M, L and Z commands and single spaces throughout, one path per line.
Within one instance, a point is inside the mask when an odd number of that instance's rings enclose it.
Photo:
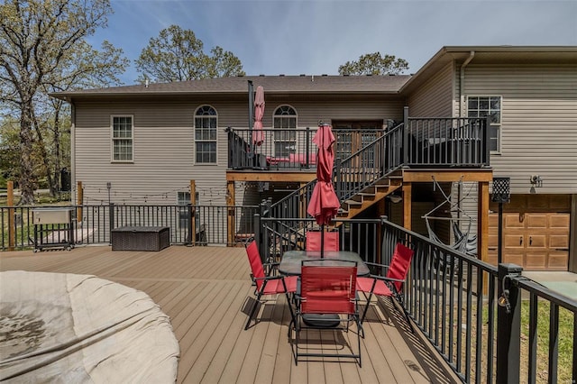
M 135 60 L 136 70 L 142 74 L 138 80 L 169 83 L 244 75 L 241 60 L 232 52 L 216 46 L 207 55 L 203 48 L 195 32 L 170 25 L 159 37 L 151 38 Z

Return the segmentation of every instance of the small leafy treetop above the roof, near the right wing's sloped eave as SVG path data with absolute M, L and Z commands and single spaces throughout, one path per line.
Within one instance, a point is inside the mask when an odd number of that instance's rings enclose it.
M 360 56 L 357 61 L 347 61 L 339 67 L 339 75 L 398 75 L 407 69 L 407 60 L 374 52 Z

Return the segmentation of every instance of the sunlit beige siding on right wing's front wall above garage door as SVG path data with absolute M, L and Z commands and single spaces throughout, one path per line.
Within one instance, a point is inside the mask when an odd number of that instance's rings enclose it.
M 474 60 L 472 64 L 474 63 Z M 577 190 L 577 66 L 475 66 L 466 70 L 465 96 L 502 96 L 500 153 L 495 176 L 511 178 L 511 193 Z

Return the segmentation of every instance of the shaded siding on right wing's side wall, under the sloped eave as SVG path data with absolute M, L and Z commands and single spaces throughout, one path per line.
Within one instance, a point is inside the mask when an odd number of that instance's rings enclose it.
M 452 116 L 453 89 L 453 63 L 449 63 L 408 97 L 409 116 Z

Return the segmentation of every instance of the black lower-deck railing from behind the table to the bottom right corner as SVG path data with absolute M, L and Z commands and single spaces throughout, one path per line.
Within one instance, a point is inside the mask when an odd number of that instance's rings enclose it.
M 261 255 L 269 261 L 305 247 L 307 219 L 256 220 Z M 577 379 L 575 300 L 527 279 L 516 265 L 492 266 L 386 218 L 336 220 L 334 228 L 340 249 L 358 252 L 363 261 L 389 264 L 397 242 L 415 251 L 404 306 L 463 382 Z M 370 315 L 365 321 L 380 320 Z

